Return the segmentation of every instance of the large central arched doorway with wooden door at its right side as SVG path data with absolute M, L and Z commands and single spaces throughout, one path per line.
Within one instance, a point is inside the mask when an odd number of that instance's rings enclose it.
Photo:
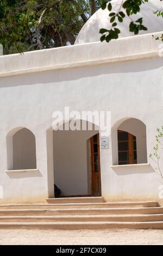
M 54 183 L 61 197 L 101 196 L 99 128 L 54 130 L 52 141 Z

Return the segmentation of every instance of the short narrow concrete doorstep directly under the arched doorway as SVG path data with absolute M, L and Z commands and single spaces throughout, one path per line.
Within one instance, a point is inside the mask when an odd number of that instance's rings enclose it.
M 67 197 L 67 198 L 47 198 L 48 204 L 70 204 L 70 203 L 103 203 L 103 197 Z

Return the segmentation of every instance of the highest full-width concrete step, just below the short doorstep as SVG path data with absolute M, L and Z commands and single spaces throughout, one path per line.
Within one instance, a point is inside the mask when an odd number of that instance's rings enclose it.
M 9 209 L 82 209 L 82 208 L 152 208 L 159 207 L 158 202 L 119 202 L 119 203 L 66 203 L 66 204 L 10 204 L 0 205 L 0 210 Z

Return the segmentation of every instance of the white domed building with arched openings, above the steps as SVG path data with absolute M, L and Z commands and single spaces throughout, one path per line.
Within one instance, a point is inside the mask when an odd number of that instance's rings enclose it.
M 63 197 L 160 200 L 149 157 L 163 125 L 161 42 L 152 38 L 163 33 L 152 13 L 160 7 L 143 5 L 148 31 L 137 36 L 124 22 L 120 39 L 100 42 L 109 18 L 98 10 L 76 45 L 0 57 L 0 202 L 45 202 L 54 183 Z M 53 113 L 65 107 L 109 111 L 106 148 L 101 131 L 53 131 Z

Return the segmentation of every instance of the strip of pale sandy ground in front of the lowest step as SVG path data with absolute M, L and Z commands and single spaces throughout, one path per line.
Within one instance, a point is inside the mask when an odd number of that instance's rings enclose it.
M 1 229 L 0 245 L 163 245 L 163 230 Z

